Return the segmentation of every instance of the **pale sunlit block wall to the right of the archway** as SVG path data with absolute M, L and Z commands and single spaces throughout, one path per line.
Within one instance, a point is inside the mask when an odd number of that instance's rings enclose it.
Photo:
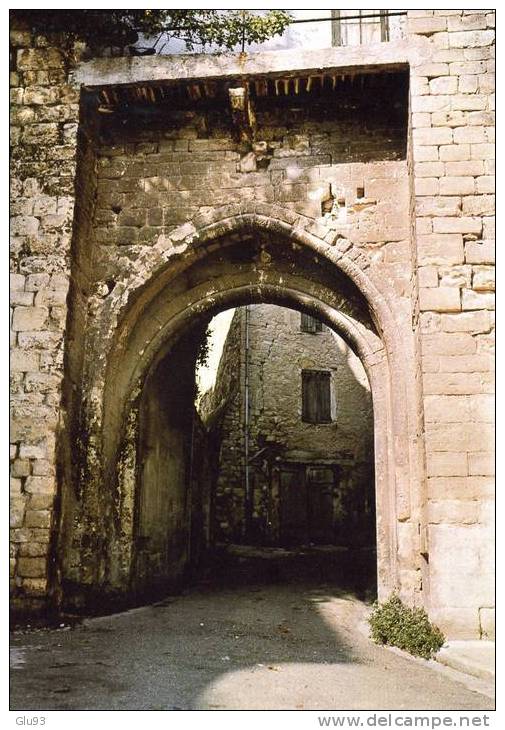
M 409 11 L 432 616 L 493 621 L 494 12 Z M 451 556 L 447 560 L 447 555 Z

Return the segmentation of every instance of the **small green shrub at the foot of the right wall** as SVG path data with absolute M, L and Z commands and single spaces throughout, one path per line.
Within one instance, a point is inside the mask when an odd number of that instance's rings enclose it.
M 386 603 L 374 603 L 368 619 L 371 637 L 376 644 L 404 649 L 414 656 L 429 659 L 445 641 L 424 608 L 409 608 L 393 593 Z

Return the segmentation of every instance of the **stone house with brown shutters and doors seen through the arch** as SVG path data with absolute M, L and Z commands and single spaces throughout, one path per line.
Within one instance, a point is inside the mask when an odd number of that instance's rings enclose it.
M 322 403 L 304 392 L 320 373 Z M 219 447 L 216 540 L 373 547 L 370 386 L 342 338 L 295 310 L 240 307 L 202 410 Z

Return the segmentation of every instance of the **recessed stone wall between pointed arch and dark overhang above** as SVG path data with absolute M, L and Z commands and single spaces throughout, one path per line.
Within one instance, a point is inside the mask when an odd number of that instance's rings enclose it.
M 209 113 L 169 111 L 161 130 L 113 128 L 107 136 L 114 143 L 97 150 L 95 282 L 120 278 L 160 235 L 231 201 L 276 202 L 319 217 L 323 202 L 329 212 L 339 199 L 353 215 L 358 240 L 383 244 L 406 238 L 406 222 L 388 220 L 404 165 L 376 163 L 405 157 L 406 110 L 382 109 L 372 121 L 367 113 L 352 103 L 334 106 L 331 114 L 326 103 L 295 112 L 279 105 L 257 109 L 257 156 L 244 154 L 222 107 Z M 365 177 L 364 195 L 373 199 L 358 201 Z M 393 179 L 387 191 L 384 178 Z M 350 218 L 339 211 L 338 221 Z

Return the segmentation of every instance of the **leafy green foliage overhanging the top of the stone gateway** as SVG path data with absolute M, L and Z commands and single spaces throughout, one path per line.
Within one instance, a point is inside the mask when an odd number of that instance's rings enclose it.
M 291 22 L 286 10 L 262 15 L 250 10 L 12 10 L 11 17 L 35 32 L 63 33 L 90 48 L 125 47 L 134 44 L 139 33 L 154 37 L 166 31 L 189 50 L 211 44 L 244 49 L 283 33 Z

